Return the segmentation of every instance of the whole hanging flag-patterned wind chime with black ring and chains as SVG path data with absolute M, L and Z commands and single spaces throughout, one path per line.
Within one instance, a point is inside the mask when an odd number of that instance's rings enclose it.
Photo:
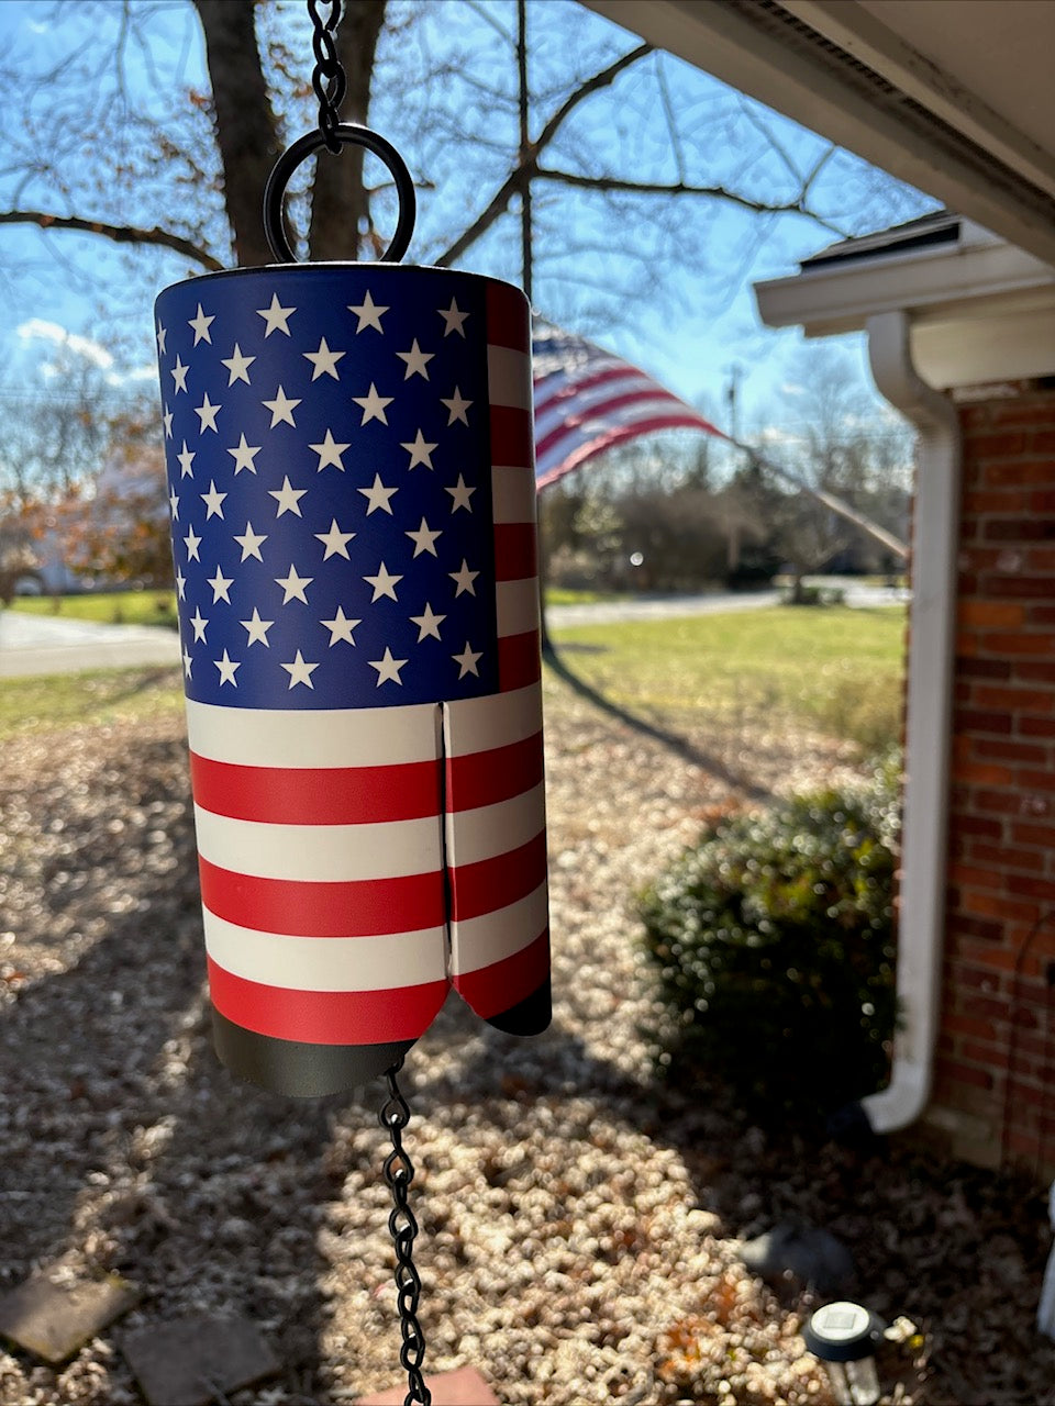
M 190 772 L 219 1057 L 280 1094 L 387 1081 L 425 1403 L 397 1074 L 452 986 L 498 1029 L 550 1021 L 529 307 L 399 266 L 414 184 L 339 121 L 340 0 L 308 8 L 319 129 L 267 181 L 276 263 L 155 305 Z M 346 145 L 394 177 L 392 242 L 297 263 L 286 184 Z

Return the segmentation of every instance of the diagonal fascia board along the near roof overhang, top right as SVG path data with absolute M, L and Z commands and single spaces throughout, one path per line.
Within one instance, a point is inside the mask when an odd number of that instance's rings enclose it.
M 753 24 L 750 11 L 722 0 L 582 3 L 1055 264 L 1047 193 L 1002 172 L 996 153 L 971 160 L 923 120 L 883 111 L 830 65 Z

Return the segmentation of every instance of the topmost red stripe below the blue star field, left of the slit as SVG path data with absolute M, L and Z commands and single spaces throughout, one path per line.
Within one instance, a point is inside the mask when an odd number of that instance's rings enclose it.
M 190 754 L 194 800 L 217 815 L 277 825 L 367 825 L 437 815 L 439 763 L 236 766 Z

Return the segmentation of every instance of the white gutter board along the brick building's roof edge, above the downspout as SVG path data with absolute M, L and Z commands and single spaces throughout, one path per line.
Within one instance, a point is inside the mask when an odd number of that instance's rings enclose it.
M 806 336 L 858 332 L 878 312 L 972 304 L 1055 287 L 1055 269 L 1013 245 L 948 246 L 876 254 L 867 260 L 809 264 L 789 278 L 754 285 L 767 326 L 802 326 Z

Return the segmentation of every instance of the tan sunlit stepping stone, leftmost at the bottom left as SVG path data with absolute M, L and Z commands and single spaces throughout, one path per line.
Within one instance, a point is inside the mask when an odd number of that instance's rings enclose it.
M 139 1291 L 117 1274 L 73 1284 L 38 1274 L 0 1296 L 0 1336 L 45 1362 L 65 1362 L 138 1298 Z

